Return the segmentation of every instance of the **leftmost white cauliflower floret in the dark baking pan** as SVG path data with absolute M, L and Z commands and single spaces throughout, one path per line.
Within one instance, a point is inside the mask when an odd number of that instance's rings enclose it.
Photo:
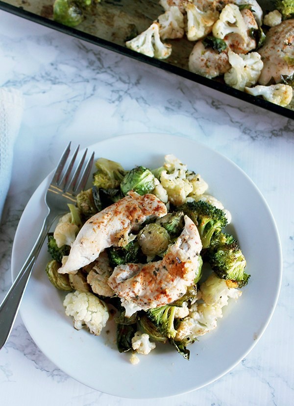
M 125 45 L 133 51 L 158 59 L 168 58 L 172 53 L 172 46 L 160 41 L 159 23 L 151 24 L 146 31 L 127 41 Z

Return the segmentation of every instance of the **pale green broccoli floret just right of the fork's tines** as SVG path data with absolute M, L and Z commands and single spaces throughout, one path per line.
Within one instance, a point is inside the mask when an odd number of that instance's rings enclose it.
M 93 175 L 93 184 L 102 189 L 118 188 L 126 171 L 121 164 L 106 158 L 99 158 L 95 162 L 97 171 Z

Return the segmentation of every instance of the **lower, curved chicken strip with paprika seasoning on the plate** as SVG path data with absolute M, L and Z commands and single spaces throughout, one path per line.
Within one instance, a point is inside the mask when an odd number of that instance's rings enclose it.
M 125 315 L 174 302 L 193 284 L 199 267 L 201 239 L 194 222 L 185 215 L 185 226 L 162 261 L 126 263 L 114 268 L 108 285 L 121 298 Z

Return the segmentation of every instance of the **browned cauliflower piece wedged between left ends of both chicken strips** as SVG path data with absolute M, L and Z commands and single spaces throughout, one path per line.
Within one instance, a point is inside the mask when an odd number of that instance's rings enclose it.
M 87 276 L 87 282 L 91 286 L 94 293 L 100 296 L 111 297 L 114 291 L 107 285 L 108 278 L 112 273 L 112 268 L 109 264 L 109 259 L 106 251 L 101 252 L 95 265 Z

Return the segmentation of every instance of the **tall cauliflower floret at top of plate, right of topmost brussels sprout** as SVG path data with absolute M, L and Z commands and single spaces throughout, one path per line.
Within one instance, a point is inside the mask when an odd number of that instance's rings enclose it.
M 171 203 L 180 206 L 193 191 L 191 182 L 186 178 L 187 166 L 173 155 L 166 155 L 165 161 L 160 183 L 167 191 Z

